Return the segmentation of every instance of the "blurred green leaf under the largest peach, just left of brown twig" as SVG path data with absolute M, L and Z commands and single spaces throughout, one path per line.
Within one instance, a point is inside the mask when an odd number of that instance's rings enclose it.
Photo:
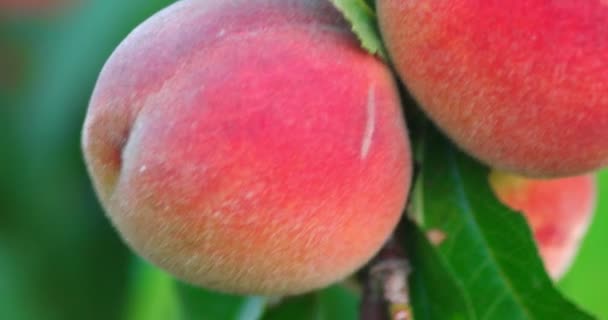
M 356 320 L 358 297 L 342 286 L 296 296 L 272 307 L 264 320 Z

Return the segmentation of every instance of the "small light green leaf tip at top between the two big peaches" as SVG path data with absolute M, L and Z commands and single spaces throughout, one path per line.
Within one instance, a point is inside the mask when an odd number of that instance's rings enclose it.
M 350 22 L 353 32 L 361 41 L 361 46 L 388 61 L 382 36 L 378 29 L 376 12 L 368 0 L 331 0 L 346 20 Z

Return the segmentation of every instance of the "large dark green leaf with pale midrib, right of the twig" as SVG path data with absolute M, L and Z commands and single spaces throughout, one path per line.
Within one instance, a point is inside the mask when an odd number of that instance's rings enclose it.
M 487 168 L 430 126 L 420 149 L 415 216 L 441 235 L 432 248 L 472 302 L 470 319 L 592 319 L 555 289 L 524 217 L 496 199 Z

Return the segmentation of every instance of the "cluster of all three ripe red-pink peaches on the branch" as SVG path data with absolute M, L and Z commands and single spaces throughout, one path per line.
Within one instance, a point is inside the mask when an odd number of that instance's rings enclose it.
M 608 6 L 376 6 L 400 80 L 463 150 L 512 172 L 491 185 L 558 277 L 595 193 L 591 176 L 565 176 L 608 163 Z M 394 230 L 412 179 L 392 70 L 328 0 L 182 0 L 154 15 L 104 66 L 83 149 L 135 251 L 233 293 L 350 275 Z

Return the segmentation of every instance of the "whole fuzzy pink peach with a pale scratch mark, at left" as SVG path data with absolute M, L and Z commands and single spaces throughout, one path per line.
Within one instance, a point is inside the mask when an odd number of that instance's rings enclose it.
M 361 267 L 412 169 L 390 71 L 323 0 L 161 11 L 103 68 L 82 141 L 135 251 L 241 294 L 298 294 Z

